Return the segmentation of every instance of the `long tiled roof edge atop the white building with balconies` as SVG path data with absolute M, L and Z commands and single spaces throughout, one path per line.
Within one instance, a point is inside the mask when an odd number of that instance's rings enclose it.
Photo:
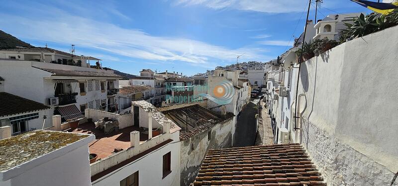
M 38 68 L 41 69 L 41 68 Z M 89 72 L 89 71 L 67 71 L 67 70 L 57 70 L 57 69 L 41 69 L 52 73 L 52 76 L 68 76 L 68 77 L 109 77 L 109 78 L 122 78 L 119 75 L 103 72 Z

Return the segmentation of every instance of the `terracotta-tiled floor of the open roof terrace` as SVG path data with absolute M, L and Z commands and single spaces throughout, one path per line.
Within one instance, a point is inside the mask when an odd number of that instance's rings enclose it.
M 110 134 L 104 134 L 103 131 L 95 128 L 93 122 L 86 122 L 80 124 L 77 129 L 74 129 L 73 133 L 82 134 L 94 134 L 96 140 L 89 143 L 90 153 L 97 154 L 99 159 L 106 158 L 113 154 L 116 148 L 126 150 L 130 148 L 130 132 L 140 132 L 140 144 L 148 140 L 148 135 L 143 134 L 144 130 L 140 127 L 129 126 L 123 129 L 119 129 L 117 132 L 113 131 Z

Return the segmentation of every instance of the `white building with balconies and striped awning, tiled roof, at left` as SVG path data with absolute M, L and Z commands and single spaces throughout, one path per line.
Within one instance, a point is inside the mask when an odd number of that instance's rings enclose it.
M 48 117 L 82 117 L 86 108 L 116 111 L 120 76 L 110 70 L 51 63 L 0 60 L 0 91 L 51 106 Z M 47 120 L 46 127 L 53 126 Z

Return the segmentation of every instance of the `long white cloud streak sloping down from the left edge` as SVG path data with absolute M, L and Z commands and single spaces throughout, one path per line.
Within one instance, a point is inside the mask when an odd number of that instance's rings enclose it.
M 212 66 L 217 61 L 233 61 L 237 54 L 245 52 L 245 57 L 250 60 L 270 58 L 261 54 L 264 49 L 229 49 L 198 40 L 158 37 L 138 29 L 126 29 L 72 15 L 55 7 L 51 10 L 56 13 L 46 11 L 41 12 L 40 16 L 28 16 L 34 12 L 27 12 L 26 17 L 0 13 L 0 26 L 4 31 L 22 38 L 61 44 L 73 43 L 79 47 L 96 48 L 111 54 L 146 60 L 176 60 L 192 65 Z M 109 60 L 117 59 L 104 57 Z

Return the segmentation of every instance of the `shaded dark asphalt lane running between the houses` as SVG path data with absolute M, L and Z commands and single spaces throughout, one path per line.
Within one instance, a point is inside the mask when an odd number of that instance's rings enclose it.
M 253 146 L 256 140 L 256 117 L 259 97 L 251 99 L 238 118 L 233 147 Z

